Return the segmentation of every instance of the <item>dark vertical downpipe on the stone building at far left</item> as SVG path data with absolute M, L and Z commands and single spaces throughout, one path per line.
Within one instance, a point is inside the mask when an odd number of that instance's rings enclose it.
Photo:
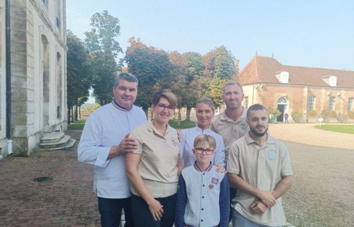
M 10 0 L 6 0 L 5 36 L 6 36 L 6 138 L 8 154 L 12 155 L 12 118 L 11 118 L 11 33 L 10 33 Z

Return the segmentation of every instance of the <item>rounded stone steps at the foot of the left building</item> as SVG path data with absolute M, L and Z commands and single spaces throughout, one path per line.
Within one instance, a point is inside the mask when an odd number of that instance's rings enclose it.
M 45 134 L 40 139 L 39 150 L 62 150 L 68 149 L 74 145 L 76 140 L 62 132 L 53 132 Z

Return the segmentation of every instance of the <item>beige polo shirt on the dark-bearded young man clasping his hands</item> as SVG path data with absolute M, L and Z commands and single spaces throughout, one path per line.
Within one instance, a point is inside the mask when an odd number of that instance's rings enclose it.
M 230 148 L 227 172 L 239 175 L 253 187 L 272 191 L 282 176 L 293 175 L 290 156 L 286 146 L 268 134 L 267 141 L 260 146 L 247 133 L 235 141 Z M 258 224 L 278 226 L 285 223 L 281 198 L 263 214 L 250 208 L 255 196 L 237 191 L 232 207 L 242 216 Z

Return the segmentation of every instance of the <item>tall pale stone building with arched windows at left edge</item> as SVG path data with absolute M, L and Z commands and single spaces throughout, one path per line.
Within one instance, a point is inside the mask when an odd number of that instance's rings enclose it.
M 9 11 L 6 10 L 8 2 Z M 10 18 L 9 41 L 6 39 L 6 18 Z M 65 18 L 65 0 L 0 1 L 2 156 L 12 151 L 27 155 L 38 148 L 43 133 L 67 128 Z M 11 46 L 10 64 L 6 61 L 7 44 Z M 10 72 L 10 78 L 7 72 Z M 6 112 L 9 106 L 7 81 L 11 81 L 9 115 Z M 7 116 L 11 116 L 11 122 L 7 121 Z M 8 127 L 11 136 L 7 135 Z

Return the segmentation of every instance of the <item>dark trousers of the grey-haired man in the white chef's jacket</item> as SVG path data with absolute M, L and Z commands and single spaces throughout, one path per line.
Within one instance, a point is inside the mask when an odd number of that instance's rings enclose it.
M 120 225 L 122 209 L 124 209 L 125 216 L 124 227 L 135 227 L 131 215 L 131 197 L 124 199 L 97 198 L 102 227 L 118 227 Z

